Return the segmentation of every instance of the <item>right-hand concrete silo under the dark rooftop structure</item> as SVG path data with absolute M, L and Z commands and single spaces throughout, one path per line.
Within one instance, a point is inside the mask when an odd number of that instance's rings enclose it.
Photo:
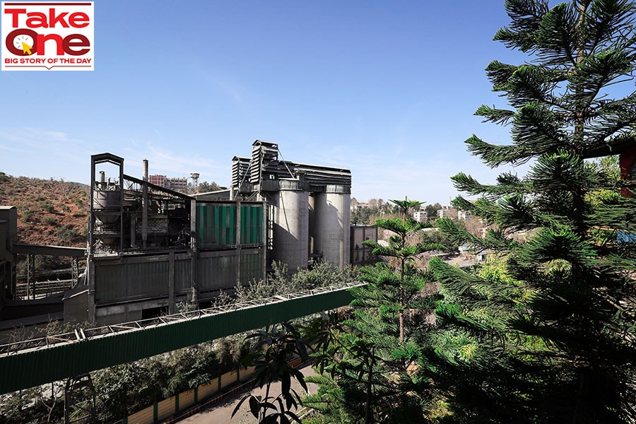
M 314 253 L 337 266 L 348 264 L 350 223 L 349 187 L 327 185 L 325 192 L 314 194 Z

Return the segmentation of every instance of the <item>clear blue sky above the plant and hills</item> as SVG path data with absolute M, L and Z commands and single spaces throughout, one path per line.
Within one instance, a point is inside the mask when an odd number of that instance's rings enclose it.
M 260 139 L 351 169 L 359 201 L 448 204 L 450 176 L 502 171 L 464 140 L 509 140 L 473 116 L 504 105 L 485 66 L 524 59 L 492 41 L 507 23 L 502 0 L 96 0 L 95 71 L 0 73 L 0 170 L 88 183 L 110 152 L 228 185 Z

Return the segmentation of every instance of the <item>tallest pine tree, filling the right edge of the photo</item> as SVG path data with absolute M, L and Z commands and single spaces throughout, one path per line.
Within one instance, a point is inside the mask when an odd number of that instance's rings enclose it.
M 440 226 L 505 265 L 431 262 L 444 301 L 425 341 L 428 370 L 452 422 L 635 422 L 636 243 L 617 241 L 636 230 L 636 202 L 618 195 L 634 185 L 588 159 L 636 144 L 636 8 L 627 0 L 553 8 L 507 0 L 505 8 L 512 23 L 495 40 L 529 62 L 490 63 L 488 78 L 510 109 L 482 105 L 476 114 L 510 126 L 511 143 L 466 143 L 490 167 L 531 169 L 490 185 L 453 177 L 478 196 L 454 205 L 496 230 L 481 239 L 449 220 Z

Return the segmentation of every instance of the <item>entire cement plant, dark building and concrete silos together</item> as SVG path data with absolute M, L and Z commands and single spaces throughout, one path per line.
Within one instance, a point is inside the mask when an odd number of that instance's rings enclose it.
M 84 255 L 86 271 L 61 300 L 64 320 L 105 325 L 174 313 L 179 302 L 206 307 L 264 279 L 271 261 L 349 264 L 360 242 L 377 239 L 350 228 L 350 170 L 281 160 L 275 143 L 257 140 L 251 156 L 232 158 L 230 187 L 216 192 L 161 187 L 149 167 L 133 177 L 124 158 L 91 156 L 86 250 L 20 245 L 15 208 L 0 211 L 3 300 L 15 298 L 16 254 Z

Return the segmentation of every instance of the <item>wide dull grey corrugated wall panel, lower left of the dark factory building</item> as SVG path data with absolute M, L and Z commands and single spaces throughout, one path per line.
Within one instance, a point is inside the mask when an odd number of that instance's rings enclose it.
M 126 264 L 95 261 L 95 303 L 167 296 L 169 269 L 167 260 Z

